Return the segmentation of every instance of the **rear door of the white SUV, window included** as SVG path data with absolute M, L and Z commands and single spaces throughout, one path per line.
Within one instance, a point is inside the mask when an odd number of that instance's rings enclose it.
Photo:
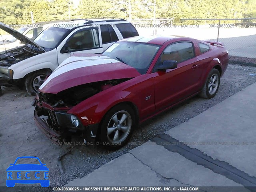
M 100 34 L 103 51 L 106 50 L 114 42 L 118 41 L 118 36 L 110 24 L 100 25 Z

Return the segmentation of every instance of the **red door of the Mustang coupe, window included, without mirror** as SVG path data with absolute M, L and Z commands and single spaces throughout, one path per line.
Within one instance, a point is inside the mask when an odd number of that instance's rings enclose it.
M 176 69 L 156 70 L 164 60 L 176 60 Z M 156 110 L 162 110 L 196 92 L 202 70 L 192 42 L 175 42 L 164 49 L 153 72 Z

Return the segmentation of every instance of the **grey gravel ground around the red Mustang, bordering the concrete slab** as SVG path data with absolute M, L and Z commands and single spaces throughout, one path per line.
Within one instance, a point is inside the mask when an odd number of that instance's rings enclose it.
M 34 124 L 34 108 L 31 106 L 33 97 L 16 88 L 4 88 L 4 95 L 0 97 L 0 175 L 6 174 L 6 168 L 16 157 L 38 156 L 50 169 L 50 188 L 40 190 L 50 191 L 53 186 L 63 186 L 93 172 L 110 160 L 193 118 L 254 82 L 255 67 L 229 64 L 214 98 L 205 100 L 196 96 L 144 122 L 134 131 L 130 142 L 114 152 L 98 146 L 53 144 Z M 75 140 L 82 141 L 81 138 L 73 138 Z M 66 154 L 62 158 L 64 174 L 60 174 L 57 157 L 63 154 Z M 5 180 L 0 180 L 0 186 L 5 186 Z

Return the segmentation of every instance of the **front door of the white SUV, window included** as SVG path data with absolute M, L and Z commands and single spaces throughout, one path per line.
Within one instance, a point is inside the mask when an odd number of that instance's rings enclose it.
M 100 53 L 102 46 L 100 44 L 98 27 L 82 28 L 69 35 L 64 43 L 58 46 L 59 65 L 68 57 L 75 53 Z

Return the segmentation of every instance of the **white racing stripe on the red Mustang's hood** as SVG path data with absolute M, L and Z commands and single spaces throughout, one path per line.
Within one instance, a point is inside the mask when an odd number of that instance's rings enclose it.
M 78 59 L 77 57 L 75 57 L 75 58 L 76 58 L 76 60 Z M 46 81 L 40 86 L 39 89 L 42 89 L 53 78 L 65 73 L 65 72 L 74 70 L 74 69 L 84 68 L 84 67 L 94 66 L 94 65 L 108 64 L 108 63 L 119 63 L 119 61 L 114 60 L 109 57 L 102 58 L 102 59 L 91 59 L 93 57 L 90 57 L 90 58 L 88 57 L 87 59 L 84 59 L 84 57 L 80 57 L 80 58 L 83 60 L 77 60 L 77 61 L 73 61 L 71 63 L 65 62 L 66 65 L 63 64 L 63 65 L 59 66 L 58 68 L 56 68 L 56 70 L 54 70 L 54 72 L 52 72 L 52 74 L 46 79 Z

